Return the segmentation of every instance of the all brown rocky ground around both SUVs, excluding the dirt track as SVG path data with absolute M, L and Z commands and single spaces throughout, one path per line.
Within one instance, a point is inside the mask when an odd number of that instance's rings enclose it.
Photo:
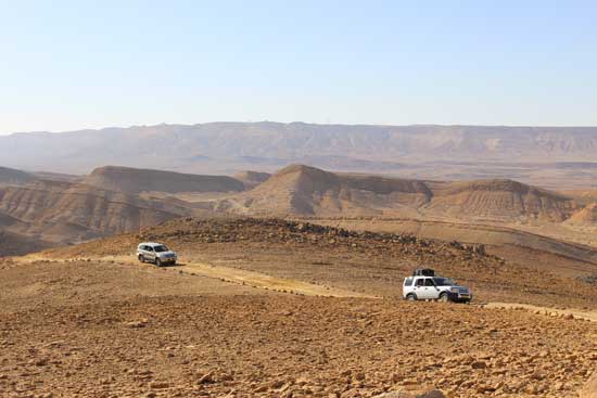
M 188 258 L 384 298 L 304 296 L 185 266 L 100 259 L 129 254 L 140 239 Z M 481 247 L 280 220 L 187 219 L 0 260 L 0 396 L 338 398 L 419 388 L 577 396 L 597 369 L 597 323 L 398 299 L 396 281 L 423 264 L 474 281 L 483 299 L 595 305 L 594 285 L 539 278 Z

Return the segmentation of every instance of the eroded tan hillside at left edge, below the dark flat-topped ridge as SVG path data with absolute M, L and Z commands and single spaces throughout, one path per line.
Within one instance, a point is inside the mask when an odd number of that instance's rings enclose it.
M 4 228 L 51 242 L 136 231 L 188 211 L 167 202 L 79 183 L 40 181 L 0 188 L 0 220 L 4 220 Z

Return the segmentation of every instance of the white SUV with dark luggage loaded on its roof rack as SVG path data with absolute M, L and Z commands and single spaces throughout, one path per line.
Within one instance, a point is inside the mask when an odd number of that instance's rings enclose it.
M 407 300 L 469 303 L 472 294 L 468 287 L 457 285 L 449 278 L 416 275 L 404 279 L 403 297 Z

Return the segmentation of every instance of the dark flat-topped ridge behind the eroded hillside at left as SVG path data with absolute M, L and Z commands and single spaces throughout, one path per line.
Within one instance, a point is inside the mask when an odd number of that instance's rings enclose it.
M 141 192 L 238 192 L 242 182 L 227 176 L 199 176 L 173 171 L 105 166 L 94 169 L 84 183 L 107 191 Z

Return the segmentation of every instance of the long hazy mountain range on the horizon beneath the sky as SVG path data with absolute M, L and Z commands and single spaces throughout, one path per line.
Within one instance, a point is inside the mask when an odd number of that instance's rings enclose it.
M 87 174 L 103 165 L 205 170 L 274 170 L 289 163 L 391 171 L 423 162 L 538 162 L 592 165 L 597 127 L 346 126 L 211 123 L 0 137 L 2 164 Z

